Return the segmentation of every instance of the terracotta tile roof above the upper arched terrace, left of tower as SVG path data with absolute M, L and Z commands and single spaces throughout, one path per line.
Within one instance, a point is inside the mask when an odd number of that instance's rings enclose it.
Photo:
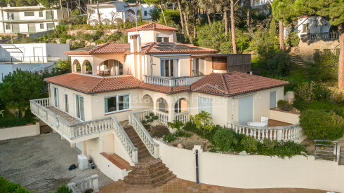
M 124 53 L 126 49 L 130 48 L 129 43 L 103 43 L 92 47 L 80 48 L 77 50 L 70 50 L 65 52 L 65 55 L 94 55 L 94 54 L 112 54 Z

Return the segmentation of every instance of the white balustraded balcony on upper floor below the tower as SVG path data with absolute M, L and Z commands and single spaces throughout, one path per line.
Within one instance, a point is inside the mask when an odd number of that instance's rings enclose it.
M 165 87 L 178 87 L 178 86 L 185 86 L 191 85 L 192 83 L 196 82 L 204 78 L 204 76 L 179 76 L 179 77 L 165 77 L 165 76 L 149 76 L 145 75 L 145 83 L 152 84 L 152 85 L 159 85 Z

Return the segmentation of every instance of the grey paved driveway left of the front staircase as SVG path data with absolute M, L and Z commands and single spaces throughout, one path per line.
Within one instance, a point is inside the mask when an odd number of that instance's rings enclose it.
M 77 148 L 58 134 L 41 134 L 0 141 L 0 176 L 34 192 L 55 192 L 61 185 L 98 174 L 100 186 L 113 181 L 98 169 L 68 171 L 77 164 Z

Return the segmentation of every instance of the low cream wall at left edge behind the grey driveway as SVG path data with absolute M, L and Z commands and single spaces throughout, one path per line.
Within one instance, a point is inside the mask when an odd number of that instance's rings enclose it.
M 32 125 L 19 127 L 0 128 L 0 141 L 10 138 L 20 138 L 25 136 L 37 136 L 40 134 L 39 122 Z

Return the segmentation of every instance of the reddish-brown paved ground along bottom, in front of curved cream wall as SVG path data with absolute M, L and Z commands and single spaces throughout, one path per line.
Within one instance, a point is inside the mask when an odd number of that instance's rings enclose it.
M 140 188 L 140 187 L 126 187 L 123 185 L 121 180 L 111 183 L 110 185 L 105 185 L 100 187 L 100 192 L 102 193 L 110 193 L 110 192 L 231 192 L 231 193 L 239 193 L 239 192 L 248 192 L 248 193 L 258 193 L 258 192 L 265 192 L 265 193 L 272 193 L 272 192 L 300 192 L 300 193 L 317 193 L 317 192 L 326 192 L 324 190 L 312 190 L 312 189 L 302 189 L 302 188 L 267 188 L 267 189 L 241 189 L 241 188 L 232 188 L 232 187 L 223 187 L 223 186 L 216 186 L 216 185 L 206 185 L 206 184 L 199 184 L 188 181 L 182 180 L 179 178 L 173 178 L 169 180 L 168 183 L 165 185 L 154 187 L 154 188 Z

